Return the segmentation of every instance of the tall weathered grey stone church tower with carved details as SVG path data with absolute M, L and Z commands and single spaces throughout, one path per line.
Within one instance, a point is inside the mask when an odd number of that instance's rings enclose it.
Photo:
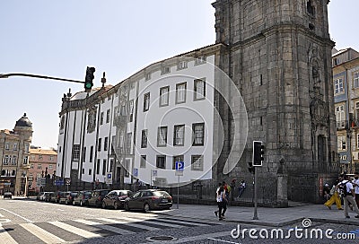
M 219 64 L 239 88 L 249 119 L 246 150 L 227 177 L 249 175 L 252 141 L 263 141 L 266 156 L 258 169 L 262 179 L 258 183 L 264 187 L 262 197 L 276 192 L 276 205 L 286 205 L 287 199 L 320 201 L 320 184 L 338 172 L 333 167 L 337 138 L 328 2 L 217 0 L 213 4 L 216 43 L 227 46 Z M 223 112 L 223 118 L 232 117 Z M 226 131 L 231 141 L 231 126 Z M 217 168 L 221 167 L 220 162 Z

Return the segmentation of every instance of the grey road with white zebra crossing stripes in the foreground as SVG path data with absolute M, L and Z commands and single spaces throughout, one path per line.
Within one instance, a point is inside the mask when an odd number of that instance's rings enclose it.
M 180 218 L 162 211 L 125 212 L 28 199 L 0 199 L 0 223 L 2 244 L 359 242 L 355 225 L 312 222 L 304 229 L 298 222 L 273 228 Z

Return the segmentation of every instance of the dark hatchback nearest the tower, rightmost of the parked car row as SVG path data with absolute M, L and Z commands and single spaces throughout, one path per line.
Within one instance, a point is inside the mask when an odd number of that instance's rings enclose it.
M 125 200 L 125 209 L 143 209 L 144 213 L 154 209 L 170 209 L 172 196 L 168 192 L 159 189 L 137 191 L 133 196 Z

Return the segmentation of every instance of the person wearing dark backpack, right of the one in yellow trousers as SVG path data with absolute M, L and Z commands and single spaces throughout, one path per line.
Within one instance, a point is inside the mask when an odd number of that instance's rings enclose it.
M 348 180 L 347 175 L 344 175 L 343 178 L 344 178 L 343 181 L 338 184 L 338 187 L 341 190 L 342 196 L 343 196 L 343 199 L 344 199 L 344 215 L 346 216 L 347 219 L 350 218 L 349 213 L 348 213 L 348 206 L 349 206 L 349 203 L 350 203 L 351 205 L 353 205 L 354 211 L 357 214 L 355 216 L 355 218 L 359 218 L 359 209 L 358 209 L 358 206 L 355 203 L 354 187 L 352 185 L 352 182 L 350 182 Z

